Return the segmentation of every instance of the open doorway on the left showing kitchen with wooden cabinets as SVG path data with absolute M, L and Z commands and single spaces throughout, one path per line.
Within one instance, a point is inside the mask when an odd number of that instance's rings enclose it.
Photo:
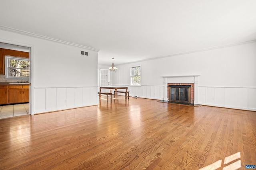
M 31 50 L 30 47 L 24 47 L 20 45 L 14 45 L 9 43 L 0 42 L 0 49 L 3 53 L 0 62 L 1 71 L 0 71 L 0 85 L 2 85 L 4 93 L 1 94 L 1 98 L 7 96 L 6 101 L 0 105 L 0 119 L 4 117 L 14 117 L 18 115 L 26 115 L 31 114 L 30 111 L 30 94 L 31 94 L 31 88 L 30 88 L 30 63 L 31 63 Z M 11 57 L 23 57 L 24 59 L 28 59 L 28 66 L 26 66 L 26 69 L 23 69 L 24 67 L 20 66 L 21 64 L 18 63 L 18 66 L 13 66 L 13 68 L 6 67 L 6 57 L 5 56 L 11 56 Z M 12 60 L 13 62 L 13 60 Z M 17 61 L 16 61 L 17 62 Z M 14 62 L 15 63 L 15 62 Z M 23 63 L 22 63 L 23 64 Z M 15 74 L 12 73 L 8 74 L 9 70 L 15 70 Z M 24 71 L 27 71 L 26 76 L 24 76 Z M 7 75 L 6 75 L 7 74 Z M 12 77 L 11 77 L 12 76 Z M 4 89 L 6 88 L 6 89 Z M 14 93 L 18 92 L 19 93 Z M 7 92 L 7 94 L 6 94 Z M 14 96 L 13 96 L 14 95 Z M 17 97 L 18 96 L 18 97 Z M 24 96 L 20 101 L 15 101 L 16 98 L 20 99 L 20 96 Z M 10 100 L 12 98 L 12 100 Z M 14 98 L 14 99 L 13 99 Z

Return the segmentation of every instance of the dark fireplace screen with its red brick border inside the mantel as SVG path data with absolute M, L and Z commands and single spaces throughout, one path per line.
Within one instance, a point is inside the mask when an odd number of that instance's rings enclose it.
M 169 100 L 190 103 L 191 85 L 169 85 Z

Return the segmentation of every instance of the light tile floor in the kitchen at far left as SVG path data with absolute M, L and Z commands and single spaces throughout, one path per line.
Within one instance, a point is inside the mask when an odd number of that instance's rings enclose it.
M 0 106 L 0 119 L 29 115 L 29 103 Z

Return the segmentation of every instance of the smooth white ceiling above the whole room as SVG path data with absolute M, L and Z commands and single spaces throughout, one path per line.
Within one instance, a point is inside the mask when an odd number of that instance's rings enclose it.
M 117 65 L 256 40 L 256 0 L 1 0 L 0 25 Z

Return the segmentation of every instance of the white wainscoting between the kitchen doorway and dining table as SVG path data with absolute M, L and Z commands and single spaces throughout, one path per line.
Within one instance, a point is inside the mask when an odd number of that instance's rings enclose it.
M 34 112 L 44 113 L 97 105 L 98 87 L 34 88 Z

